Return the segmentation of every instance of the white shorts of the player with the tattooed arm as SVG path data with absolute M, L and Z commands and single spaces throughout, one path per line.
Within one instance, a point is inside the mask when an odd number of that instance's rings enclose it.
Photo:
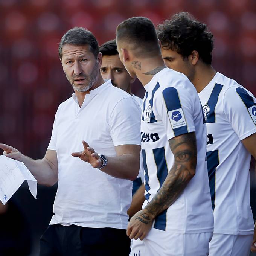
M 211 238 L 212 232 L 178 234 L 152 228 L 142 241 L 133 239 L 130 255 L 207 256 Z

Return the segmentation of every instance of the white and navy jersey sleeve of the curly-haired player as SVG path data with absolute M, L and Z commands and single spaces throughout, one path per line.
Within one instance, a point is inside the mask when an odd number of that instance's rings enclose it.
M 243 87 L 230 87 L 223 99 L 223 111 L 240 140 L 256 133 L 256 100 Z

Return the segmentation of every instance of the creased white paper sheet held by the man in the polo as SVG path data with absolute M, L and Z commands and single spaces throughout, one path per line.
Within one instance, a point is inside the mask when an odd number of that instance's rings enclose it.
M 21 184 L 27 180 L 29 190 L 37 198 L 37 180 L 24 163 L 0 156 L 0 200 L 3 204 L 12 197 Z

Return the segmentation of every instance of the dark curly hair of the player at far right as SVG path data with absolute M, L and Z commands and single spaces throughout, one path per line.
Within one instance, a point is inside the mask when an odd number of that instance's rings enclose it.
M 206 24 L 188 12 L 180 12 L 157 26 L 157 36 L 165 50 L 175 50 L 184 57 L 197 51 L 205 64 L 212 63 L 213 35 Z

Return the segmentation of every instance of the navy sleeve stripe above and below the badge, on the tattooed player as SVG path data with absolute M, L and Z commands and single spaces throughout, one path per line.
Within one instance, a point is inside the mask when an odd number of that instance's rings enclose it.
M 176 88 L 168 87 L 165 90 L 163 90 L 163 99 L 165 100 L 167 112 L 181 108 L 180 98 Z M 173 129 L 173 131 L 174 136 L 188 133 L 187 126 L 175 128 Z

